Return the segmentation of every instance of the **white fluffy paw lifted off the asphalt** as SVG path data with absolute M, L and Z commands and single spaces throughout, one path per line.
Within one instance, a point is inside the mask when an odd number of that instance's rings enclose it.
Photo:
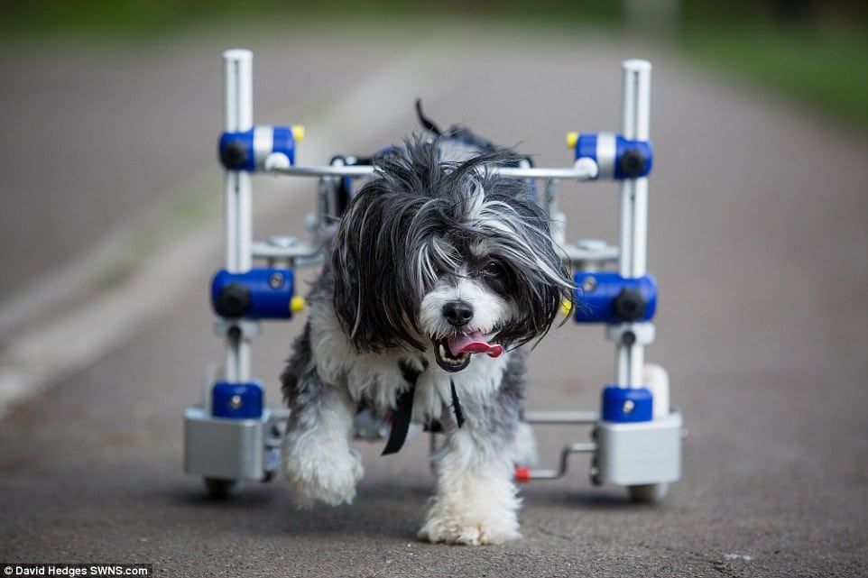
M 356 483 L 365 472 L 359 454 L 346 445 L 305 449 L 289 438 L 283 440 L 282 465 L 292 499 L 302 508 L 315 501 L 329 506 L 352 503 Z

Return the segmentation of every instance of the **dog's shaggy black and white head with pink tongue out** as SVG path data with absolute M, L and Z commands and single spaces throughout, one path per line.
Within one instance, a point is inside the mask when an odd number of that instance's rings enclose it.
M 434 348 L 439 366 L 544 335 L 572 283 L 549 217 L 492 167 L 510 151 L 444 161 L 437 142 L 377 159 L 338 227 L 334 306 L 359 351 Z

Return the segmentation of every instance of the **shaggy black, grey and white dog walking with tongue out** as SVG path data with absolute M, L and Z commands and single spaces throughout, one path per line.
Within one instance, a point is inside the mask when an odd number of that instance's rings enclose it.
M 520 536 L 512 464 L 522 345 L 546 334 L 572 284 L 531 188 L 492 170 L 516 161 L 447 137 L 374 159 L 282 375 L 283 474 L 301 506 L 353 500 L 363 473 L 349 444 L 356 412 L 388 414 L 409 399 L 413 421 L 439 422 L 446 435 L 420 537 Z

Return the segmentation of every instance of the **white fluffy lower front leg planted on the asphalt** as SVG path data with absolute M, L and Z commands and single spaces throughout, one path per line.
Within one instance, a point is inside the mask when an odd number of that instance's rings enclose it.
M 512 483 L 509 452 L 468 419 L 437 457 L 437 493 L 421 539 L 448 544 L 500 544 L 521 537 L 521 500 Z

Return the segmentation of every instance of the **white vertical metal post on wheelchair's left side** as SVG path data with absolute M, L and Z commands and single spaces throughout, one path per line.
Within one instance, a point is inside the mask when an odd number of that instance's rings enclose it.
M 254 126 L 254 53 L 226 50 L 223 78 L 226 132 L 248 131 Z M 226 171 L 226 270 L 248 271 L 253 264 L 253 212 L 250 174 Z M 250 343 L 239 331 L 226 335 L 226 381 L 250 380 Z

